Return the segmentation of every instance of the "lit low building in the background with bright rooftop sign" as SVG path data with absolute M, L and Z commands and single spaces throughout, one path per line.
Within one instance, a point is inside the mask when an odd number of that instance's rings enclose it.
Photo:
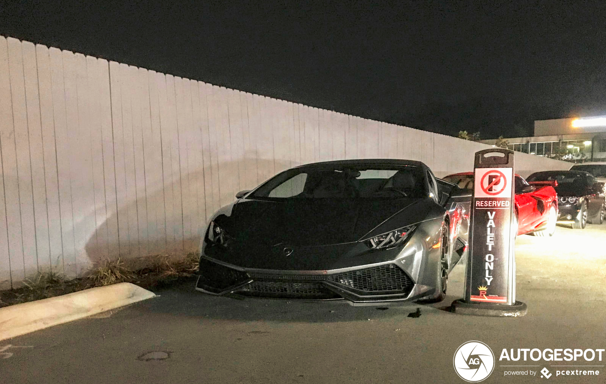
M 518 152 L 574 162 L 606 161 L 606 116 L 535 120 L 534 136 L 505 140 Z M 480 143 L 494 145 L 496 140 Z

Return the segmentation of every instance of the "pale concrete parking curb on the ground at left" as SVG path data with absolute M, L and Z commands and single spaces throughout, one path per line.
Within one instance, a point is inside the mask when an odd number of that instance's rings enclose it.
M 0 308 L 0 340 L 78 320 L 137 301 L 156 297 L 131 283 L 84 289 Z

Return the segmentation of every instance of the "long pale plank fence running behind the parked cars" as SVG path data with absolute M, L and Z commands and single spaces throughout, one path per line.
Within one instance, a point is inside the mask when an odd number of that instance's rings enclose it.
M 487 147 L 0 36 L 0 288 L 194 250 L 236 192 L 298 164 L 406 158 L 441 177 Z

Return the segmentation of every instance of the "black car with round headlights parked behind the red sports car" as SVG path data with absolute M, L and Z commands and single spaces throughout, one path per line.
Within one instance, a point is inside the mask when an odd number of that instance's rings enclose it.
M 581 170 L 549 170 L 528 176 L 529 182 L 555 181 L 558 192 L 558 222 L 582 229 L 586 223 L 604 222 L 604 183 Z

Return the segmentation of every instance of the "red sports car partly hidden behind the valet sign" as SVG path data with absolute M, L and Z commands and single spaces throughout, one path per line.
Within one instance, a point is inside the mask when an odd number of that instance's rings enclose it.
M 473 172 L 454 173 L 442 180 L 456 184 L 461 189 L 473 191 Z M 558 195 L 548 182 L 527 183 L 516 174 L 516 220 L 518 235 L 551 236 L 558 221 Z

